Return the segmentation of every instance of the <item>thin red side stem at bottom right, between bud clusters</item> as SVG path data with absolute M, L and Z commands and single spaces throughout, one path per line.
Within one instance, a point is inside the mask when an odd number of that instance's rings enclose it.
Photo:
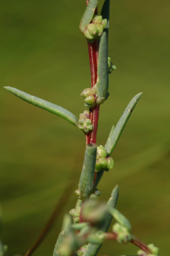
M 117 239 L 117 233 L 113 232 L 113 233 L 107 233 L 106 234 L 106 240 L 116 240 Z M 146 252 L 147 254 L 150 254 L 150 248 L 148 248 L 148 246 L 143 243 L 142 241 L 138 240 L 137 238 L 132 238 L 130 243 L 138 246 L 138 248 L 140 248 L 141 250 L 143 250 L 143 252 Z

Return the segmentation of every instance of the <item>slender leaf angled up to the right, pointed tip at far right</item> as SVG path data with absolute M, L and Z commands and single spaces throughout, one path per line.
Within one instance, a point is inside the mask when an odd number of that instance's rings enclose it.
M 127 124 L 127 121 L 129 120 L 129 117 L 131 116 L 132 111 L 138 103 L 141 95 L 142 93 L 138 93 L 133 97 L 133 99 L 127 105 L 127 108 L 125 109 L 123 115 L 120 117 L 120 120 L 118 121 L 115 129 L 113 127 L 111 128 L 110 135 L 104 146 L 106 148 L 108 156 L 111 155 L 115 146 L 117 145 L 120 135 L 122 134 L 122 131 L 124 131 L 124 127 Z

